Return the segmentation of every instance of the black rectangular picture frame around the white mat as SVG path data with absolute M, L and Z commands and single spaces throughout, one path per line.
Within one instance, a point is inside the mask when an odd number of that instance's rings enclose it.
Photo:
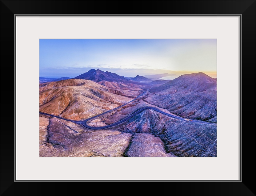
M 1 195 L 86 195 L 89 194 L 86 192 L 87 188 L 93 190 L 95 195 L 255 195 L 255 0 L 1 1 L 0 6 Z M 15 82 L 18 81 L 15 81 L 15 17 L 40 14 L 240 16 L 240 180 L 17 181 Z M 136 192 L 135 187 L 140 192 Z

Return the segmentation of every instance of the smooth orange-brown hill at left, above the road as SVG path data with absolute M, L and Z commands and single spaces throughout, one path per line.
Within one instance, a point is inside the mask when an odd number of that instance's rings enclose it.
M 138 96 L 140 92 L 136 92 Z M 127 103 L 132 92 L 109 89 L 94 81 L 69 79 L 39 85 L 39 111 L 80 120 Z

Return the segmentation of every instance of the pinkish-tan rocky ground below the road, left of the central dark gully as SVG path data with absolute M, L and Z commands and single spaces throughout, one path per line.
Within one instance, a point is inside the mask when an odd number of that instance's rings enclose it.
M 65 120 L 40 117 L 47 127 L 40 139 L 40 156 L 124 156 L 132 135 L 117 130 L 89 131 Z M 40 138 L 45 131 L 41 128 Z

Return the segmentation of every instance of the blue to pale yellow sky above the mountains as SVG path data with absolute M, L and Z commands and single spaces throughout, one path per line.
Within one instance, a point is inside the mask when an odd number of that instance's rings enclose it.
M 40 39 L 40 77 L 76 77 L 90 69 L 125 77 L 203 72 L 217 77 L 216 39 Z

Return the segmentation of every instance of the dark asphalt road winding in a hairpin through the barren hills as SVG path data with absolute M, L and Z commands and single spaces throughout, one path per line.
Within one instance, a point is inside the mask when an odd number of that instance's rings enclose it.
M 144 91 L 142 94 L 140 94 L 139 96 L 137 96 L 135 99 L 133 99 L 133 100 L 127 102 L 126 104 L 129 104 L 130 102 L 133 102 L 134 100 L 138 99 L 140 96 L 143 96 L 145 93 L 146 93 L 146 91 Z M 62 118 L 62 117 L 55 116 L 55 115 L 51 115 L 51 114 L 46 114 L 46 113 L 43 113 L 43 112 L 39 112 L 39 114 L 49 115 L 49 116 L 53 116 L 53 117 L 56 117 L 56 118 L 59 118 L 59 119 L 67 120 L 67 121 L 70 121 L 70 122 L 73 122 L 73 123 L 82 124 L 82 125 L 85 126 L 86 128 L 88 128 L 88 129 L 93 129 L 93 130 L 96 130 L 96 129 L 105 129 L 105 128 L 109 128 L 109 127 L 111 127 L 111 126 L 115 126 L 115 125 L 118 125 L 118 124 L 120 124 L 120 123 L 123 123 L 123 122 L 125 122 L 126 120 L 132 118 L 133 116 L 135 116 L 136 114 L 140 113 L 142 110 L 145 110 L 145 109 L 152 109 L 152 110 L 157 111 L 157 112 L 159 112 L 159 113 L 161 113 L 161 114 L 164 114 L 164 115 L 166 115 L 166 116 L 170 116 L 170 117 L 172 117 L 172 118 L 179 119 L 179 120 L 182 120 L 182 121 L 185 121 L 185 122 L 188 122 L 188 123 L 204 123 L 204 124 L 210 124 L 210 125 L 213 125 L 213 126 L 216 126 L 216 125 L 217 125 L 216 123 L 209 123 L 209 122 L 205 122 L 205 121 L 201 121 L 201 120 L 185 119 L 185 118 L 182 118 L 182 117 L 180 117 L 180 116 L 175 116 L 175 115 L 172 115 L 172 114 L 168 114 L 168 113 L 166 113 L 166 112 L 163 112 L 163 111 L 159 110 L 159 109 L 156 108 L 156 107 L 150 107 L 150 106 L 142 107 L 142 108 L 138 109 L 137 111 L 135 111 L 135 112 L 134 112 L 133 114 L 131 114 L 130 116 L 127 116 L 126 118 L 124 118 L 124 119 L 122 119 L 122 120 L 120 120 L 120 121 L 118 121 L 118 122 L 116 122 L 116 123 L 110 124 L 110 125 L 100 126 L 100 127 L 92 127 L 92 126 L 87 125 L 87 122 L 88 122 L 89 120 L 94 119 L 94 118 L 97 118 L 98 116 L 104 115 L 104 114 L 106 114 L 106 113 L 108 113 L 108 112 L 111 112 L 111 111 L 113 111 L 113 110 L 115 110 L 115 109 L 118 109 L 118 108 L 120 108 L 120 107 L 123 107 L 123 106 L 125 106 L 126 104 L 123 104 L 123 105 L 121 105 L 121 106 L 118 106 L 118 107 L 116 107 L 116 108 L 114 108 L 114 109 L 112 109 L 112 110 L 103 112 L 102 114 L 93 116 L 93 117 L 91 117 L 91 118 L 89 118 L 89 119 L 86 119 L 86 120 L 84 120 L 84 121 L 76 121 L 76 120 L 64 119 L 64 118 Z

